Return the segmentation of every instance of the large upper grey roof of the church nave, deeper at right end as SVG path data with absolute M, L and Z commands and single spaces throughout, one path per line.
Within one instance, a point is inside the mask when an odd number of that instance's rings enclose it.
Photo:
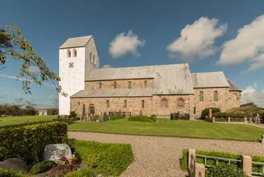
M 90 72 L 86 81 L 116 79 L 154 78 L 154 95 L 193 94 L 189 65 L 173 64 L 160 66 L 139 66 L 131 68 L 96 69 Z

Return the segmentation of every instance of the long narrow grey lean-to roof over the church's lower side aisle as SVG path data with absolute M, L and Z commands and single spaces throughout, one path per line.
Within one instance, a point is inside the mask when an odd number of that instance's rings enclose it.
M 118 88 L 105 90 L 82 90 L 75 93 L 71 98 L 99 98 L 99 97 L 149 97 L 152 88 Z

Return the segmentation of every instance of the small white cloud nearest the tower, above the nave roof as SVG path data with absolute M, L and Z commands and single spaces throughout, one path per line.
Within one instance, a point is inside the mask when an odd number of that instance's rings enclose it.
M 145 40 L 138 39 L 138 36 L 132 31 L 120 33 L 115 36 L 115 39 L 110 43 L 109 53 L 113 58 L 124 56 L 131 53 L 139 56 L 138 47 L 145 45 Z

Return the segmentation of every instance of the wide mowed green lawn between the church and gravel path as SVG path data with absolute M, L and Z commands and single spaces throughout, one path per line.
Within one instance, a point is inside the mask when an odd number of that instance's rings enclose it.
M 108 121 L 104 123 L 73 123 L 69 131 L 106 132 L 166 137 L 195 137 L 204 139 L 228 139 L 260 141 L 263 128 L 251 125 L 208 123 L 206 121 L 170 121 L 159 119 L 158 123 Z

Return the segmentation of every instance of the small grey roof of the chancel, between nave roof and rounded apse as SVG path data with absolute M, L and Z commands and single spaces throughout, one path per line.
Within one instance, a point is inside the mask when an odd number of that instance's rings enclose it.
M 229 87 L 223 72 L 198 72 L 192 73 L 194 88 Z

